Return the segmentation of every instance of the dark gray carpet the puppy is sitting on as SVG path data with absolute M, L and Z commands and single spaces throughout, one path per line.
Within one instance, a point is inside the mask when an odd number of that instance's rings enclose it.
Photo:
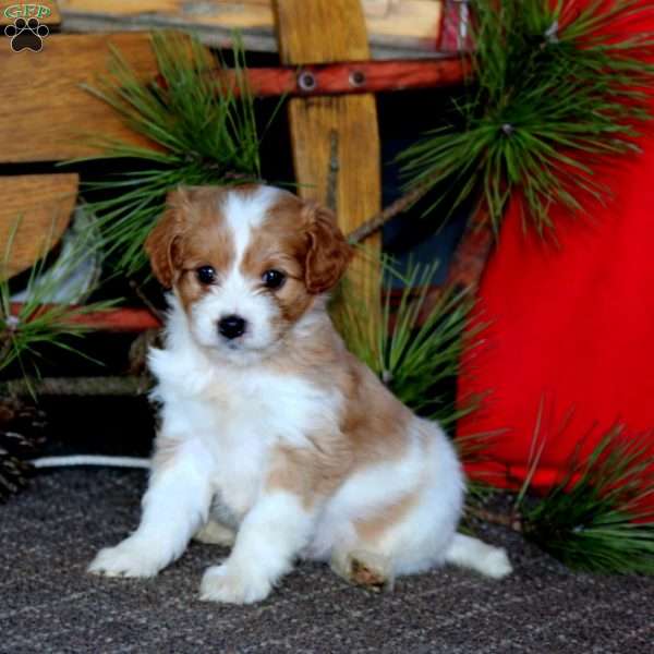
M 572 573 L 504 532 L 485 537 L 509 548 L 508 580 L 446 569 L 384 595 L 302 564 L 261 605 L 205 604 L 201 574 L 225 552 L 199 544 L 154 580 L 85 574 L 136 525 L 144 481 L 43 473 L 0 506 L 0 652 L 654 652 L 653 580 Z

